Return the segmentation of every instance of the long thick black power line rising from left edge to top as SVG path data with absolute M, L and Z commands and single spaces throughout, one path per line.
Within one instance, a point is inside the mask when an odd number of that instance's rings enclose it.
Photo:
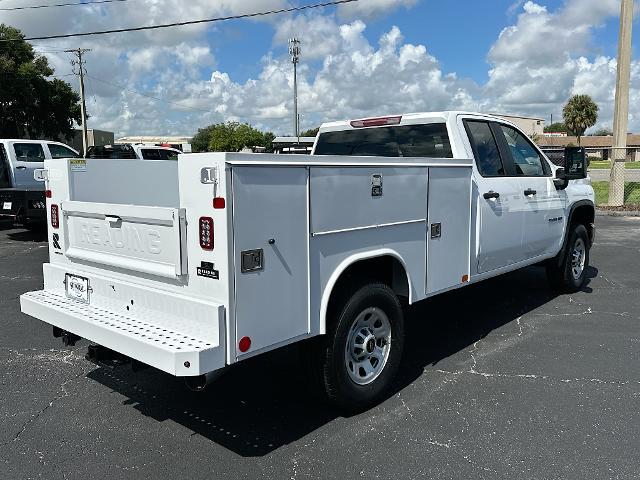
M 107 35 L 111 33 L 140 32 L 143 30 L 157 30 L 160 28 L 183 27 L 185 25 L 197 25 L 201 23 L 223 22 L 227 20 L 240 20 L 243 18 L 255 18 L 255 17 L 263 17 L 267 15 L 276 15 L 281 13 L 300 12 L 303 10 L 310 10 L 312 8 L 330 7 L 330 6 L 335 6 L 335 5 L 345 4 L 345 3 L 353 3 L 357 1 L 358 0 L 333 0 L 333 1 L 327 1 L 322 3 L 314 3 L 310 5 L 300 5 L 298 7 L 281 8 L 278 10 L 267 10 L 264 12 L 230 15 L 227 17 L 205 18 L 202 20 L 189 20 L 186 22 L 164 23 L 161 25 L 148 25 L 146 27 L 116 28 L 112 30 L 97 30 L 93 32 L 66 33 L 61 35 L 46 35 L 42 37 L 28 37 L 28 38 L 25 38 L 24 40 L 53 40 L 56 38 L 86 37 L 89 35 Z M 11 41 L 19 41 L 19 40 L 22 40 L 22 39 L 6 38 L 6 39 L 0 39 L 0 42 L 11 42 Z

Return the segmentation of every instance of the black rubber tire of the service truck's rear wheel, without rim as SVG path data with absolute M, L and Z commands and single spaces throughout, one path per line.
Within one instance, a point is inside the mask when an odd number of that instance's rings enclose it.
M 358 412 L 382 400 L 393 383 L 404 347 L 404 314 L 400 300 L 385 284 L 367 283 L 351 292 L 353 293 L 347 294 L 347 298 L 338 302 L 333 311 L 329 312 L 327 334 L 319 343 L 319 351 L 314 355 L 314 361 L 318 362 L 316 371 L 328 400 L 344 411 Z M 366 319 L 369 315 L 366 313 L 367 310 L 371 311 L 372 308 L 382 311 L 390 324 L 388 356 L 370 383 L 358 384 L 352 379 L 353 364 L 352 373 L 347 370 L 347 342 L 357 336 L 357 333 L 352 333 L 355 322 L 359 318 Z M 374 321 L 377 322 L 375 319 Z M 383 349 L 387 345 L 385 340 L 381 340 L 380 343 L 374 340 L 374 347 L 376 344 L 381 344 Z M 364 351 L 363 353 L 366 354 Z M 370 360 L 370 363 L 375 360 Z

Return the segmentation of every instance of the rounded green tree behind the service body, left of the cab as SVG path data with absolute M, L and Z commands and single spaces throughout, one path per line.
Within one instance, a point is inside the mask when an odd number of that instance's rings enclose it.
M 261 132 L 248 123 L 227 122 L 201 128 L 191 140 L 194 152 L 238 152 L 243 148 L 272 148 L 275 135 Z

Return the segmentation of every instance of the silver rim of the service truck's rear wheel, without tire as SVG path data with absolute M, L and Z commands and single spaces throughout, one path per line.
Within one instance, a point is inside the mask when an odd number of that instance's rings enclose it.
M 347 336 L 344 361 L 347 374 L 358 385 L 375 381 L 391 351 L 391 322 L 379 308 L 370 307 L 356 317 Z

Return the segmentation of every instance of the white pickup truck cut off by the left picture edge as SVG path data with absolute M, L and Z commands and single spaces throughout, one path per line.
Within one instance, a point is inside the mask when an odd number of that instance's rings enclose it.
M 34 171 L 53 158 L 77 158 L 71 147 L 47 140 L 0 140 L 0 219 L 27 227 L 46 221 L 44 184 Z

